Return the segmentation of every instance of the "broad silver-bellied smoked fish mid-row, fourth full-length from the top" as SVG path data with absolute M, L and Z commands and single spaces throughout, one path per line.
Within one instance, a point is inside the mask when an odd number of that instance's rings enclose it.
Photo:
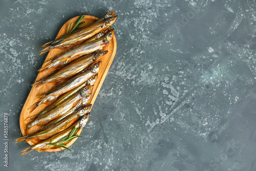
M 71 78 L 69 81 L 59 85 L 56 89 L 54 89 L 51 93 L 40 96 L 39 100 L 33 104 L 30 108 L 34 108 L 34 106 L 39 106 L 40 104 L 50 105 L 52 104 L 60 95 L 71 91 L 72 89 L 80 86 L 82 83 L 87 81 L 90 77 L 97 74 L 101 65 L 101 61 L 95 63 L 92 67 L 82 70 L 76 76 Z

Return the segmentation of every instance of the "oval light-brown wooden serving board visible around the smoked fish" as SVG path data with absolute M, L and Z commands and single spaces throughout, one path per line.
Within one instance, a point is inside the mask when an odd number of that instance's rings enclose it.
M 71 28 L 73 28 L 78 17 L 79 16 L 76 16 L 76 17 L 70 19 L 67 23 L 65 23 L 65 25 L 63 25 L 61 27 L 61 29 L 59 30 L 59 32 L 56 36 L 56 39 L 67 33 L 69 26 L 70 26 L 70 22 L 72 22 Z M 85 23 L 83 23 L 80 27 L 85 27 L 85 26 L 91 25 L 98 19 L 99 18 L 94 17 L 94 16 L 85 15 L 84 18 L 82 19 L 82 22 L 85 22 Z M 111 28 L 109 28 L 109 29 L 112 30 Z M 108 73 L 108 71 L 110 69 L 111 63 L 116 54 L 116 37 L 115 37 L 115 35 L 113 35 L 113 39 L 111 40 L 111 42 L 108 45 L 106 45 L 105 47 L 103 47 L 103 51 L 105 51 L 105 50 L 108 50 L 109 52 L 99 59 L 101 61 L 101 67 L 98 72 L 98 79 L 96 80 L 96 82 L 94 84 L 92 97 L 89 100 L 89 103 L 92 105 L 95 102 L 95 99 L 99 93 L 102 83 L 106 77 L 106 74 Z M 60 49 L 50 50 L 50 52 L 48 53 L 48 55 L 46 57 L 45 62 L 58 57 L 62 53 L 65 53 L 65 50 L 60 50 Z M 43 78 L 46 78 L 54 71 L 55 71 L 55 69 L 49 69 L 47 71 L 40 73 L 37 76 L 35 82 L 39 81 Z M 28 110 L 29 106 L 31 106 L 38 100 L 38 96 L 49 93 L 54 87 L 55 86 L 53 86 L 53 84 L 51 84 L 51 83 L 46 83 L 38 89 L 36 89 L 35 86 L 32 87 L 32 89 L 29 93 L 29 96 L 23 106 L 22 113 L 20 114 L 20 117 L 19 117 L 20 130 L 22 131 L 23 136 L 27 136 L 25 130 L 27 128 L 27 125 L 31 122 L 31 121 L 26 121 L 26 119 L 31 116 L 35 116 L 35 115 L 39 114 L 41 111 L 43 111 L 47 107 L 47 105 L 41 104 L 38 106 L 38 108 L 36 110 L 34 110 L 33 112 L 30 113 L 30 110 Z M 31 135 L 33 133 L 36 133 L 38 130 L 39 130 L 38 127 L 33 126 L 29 130 L 28 134 Z M 80 132 L 81 132 L 81 130 L 78 132 L 78 135 L 80 134 Z M 75 138 L 72 141 L 70 141 L 69 143 L 67 143 L 67 147 L 70 146 L 71 144 L 73 144 L 76 141 L 76 139 L 77 138 Z M 35 143 L 37 143 L 37 141 L 32 140 L 32 141 L 28 141 L 28 143 L 30 145 L 34 145 Z M 60 149 L 57 147 L 53 147 L 51 149 L 48 149 L 46 152 L 57 152 L 57 151 L 60 151 Z

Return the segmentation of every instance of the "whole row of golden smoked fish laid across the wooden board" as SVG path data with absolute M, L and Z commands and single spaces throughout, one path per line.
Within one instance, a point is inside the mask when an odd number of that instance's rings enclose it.
M 40 74 L 51 68 L 56 69 L 51 75 L 35 82 L 33 84 L 35 89 L 40 89 L 47 83 L 55 84 L 56 87 L 50 93 L 40 96 L 30 106 L 29 110 L 32 112 L 41 104 L 48 105 L 44 111 L 26 119 L 29 121 L 26 128 L 27 136 L 15 140 L 16 142 L 25 140 L 37 142 L 24 149 L 22 155 L 34 149 L 42 153 L 56 148 L 50 144 L 57 144 L 69 136 L 74 128 L 78 132 L 86 125 L 92 106 L 88 102 L 101 66 L 99 59 L 108 53 L 108 51 L 101 50 L 113 37 L 114 29 L 109 29 L 109 27 L 117 19 L 114 15 L 115 12 L 108 12 L 92 25 L 78 28 L 42 46 L 45 49 L 40 51 L 40 54 L 55 48 L 67 49 L 67 53 L 45 62 L 38 70 Z M 70 48 L 76 44 L 78 46 Z M 29 130 L 33 126 L 39 127 L 39 131 L 29 135 Z

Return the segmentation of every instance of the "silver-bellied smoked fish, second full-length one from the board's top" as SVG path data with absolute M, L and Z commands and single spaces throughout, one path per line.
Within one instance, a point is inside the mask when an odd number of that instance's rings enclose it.
M 89 54 L 96 50 L 101 49 L 105 45 L 109 44 L 109 42 L 111 41 L 111 39 L 113 37 L 113 35 L 112 35 L 113 32 L 114 32 L 114 29 L 112 31 L 109 31 L 108 33 L 106 33 L 104 37 L 101 37 L 101 38 L 96 39 L 91 42 L 86 42 L 86 43 L 78 46 L 76 49 L 74 49 L 68 53 L 65 53 L 63 55 L 60 55 L 56 59 L 45 62 L 42 65 L 39 72 L 48 70 L 50 68 L 54 68 L 54 69 L 62 68 L 63 66 L 67 65 L 67 63 L 71 62 L 72 60 L 75 60 L 76 58 L 78 58 L 82 55 L 86 55 L 86 54 Z

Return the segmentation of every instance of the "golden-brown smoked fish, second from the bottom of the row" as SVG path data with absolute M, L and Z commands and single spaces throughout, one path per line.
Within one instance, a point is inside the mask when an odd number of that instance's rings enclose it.
M 54 126 L 49 127 L 46 130 L 41 130 L 40 132 L 38 132 L 34 135 L 18 138 L 18 139 L 16 139 L 16 141 L 20 142 L 22 140 L 32 140 L 32 139 L 37 140 L 37 141 L 45 140 L 61 131 L 67 129 L 67 127 L 74 124 L 81 116 L 88 114 L 91 110 L 91 106 L 92 105 L 85 106 L 83 108 L 79 108 L 77 111 L 75 111 L 68 117 L 66 117 L 66 118 L 62 119 L 60 122 L 56 123 Z

